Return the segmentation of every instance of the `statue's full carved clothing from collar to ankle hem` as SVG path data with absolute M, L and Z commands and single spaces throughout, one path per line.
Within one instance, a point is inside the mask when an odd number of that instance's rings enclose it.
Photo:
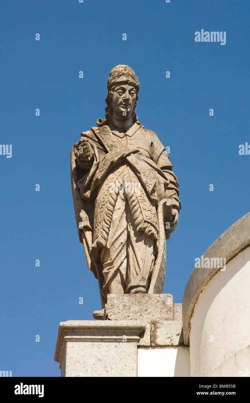
M 82 141 L 92 147 L 91 160 L 79 158 Z M 71 152 L 74 208 L 103 305 L 116 283 L 124 293 L 147 291 L 158 250 L 157 206 L 167 197 L 180 211 L 178 182 L 165 147 L 139 122 L 126 133 L 92 127 L 80 142 Z

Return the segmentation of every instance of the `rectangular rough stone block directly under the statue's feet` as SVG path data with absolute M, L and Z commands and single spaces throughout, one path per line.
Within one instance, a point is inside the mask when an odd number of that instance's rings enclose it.
M 109 294 L 109 320 L 174 320 L 174 301 L 171 294 Z

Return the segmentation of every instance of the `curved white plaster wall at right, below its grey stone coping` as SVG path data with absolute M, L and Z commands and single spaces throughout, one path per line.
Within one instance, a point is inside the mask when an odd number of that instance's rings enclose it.
M 200 269 L 202 270 L 202 269 Z M 191 376 L 250 376 L 250 247 L 202 291 L 190 330 Z

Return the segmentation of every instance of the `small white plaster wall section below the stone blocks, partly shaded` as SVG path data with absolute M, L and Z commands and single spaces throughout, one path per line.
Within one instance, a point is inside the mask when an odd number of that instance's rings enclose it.
M 189 348 L 139 347 L 137 376 L 190 376 Z

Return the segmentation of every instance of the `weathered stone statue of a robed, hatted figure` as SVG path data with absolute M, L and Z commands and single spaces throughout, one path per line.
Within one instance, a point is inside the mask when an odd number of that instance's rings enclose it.
M 101 295 L 96 319 L 103 319 L 108 294 L 162 293 L 165 239 L 181 208 L 165 147 L 136 116 L 138 91 L 133 69 L 114 67 L 105 118 L 71 151 L 79 239 Z

